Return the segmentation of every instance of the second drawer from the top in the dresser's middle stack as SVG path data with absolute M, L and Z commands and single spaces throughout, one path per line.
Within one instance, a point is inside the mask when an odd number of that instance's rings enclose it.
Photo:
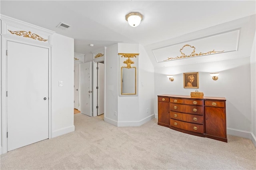
M 191 105 L 170 103 L 170 111 L 191 113 L 194 115 L 204 115 L 204 107 L 203 106 L 191 106 Z

